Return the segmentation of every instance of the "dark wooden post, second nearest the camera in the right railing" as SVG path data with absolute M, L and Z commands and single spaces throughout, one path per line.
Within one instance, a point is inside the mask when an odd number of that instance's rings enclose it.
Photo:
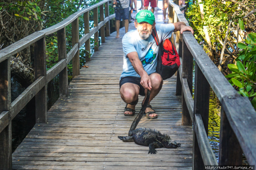
M 195 64 L 194 114 L 201 114 L 208 135 L 210 86 L 202 71 Z M 193 169 L 205 169 L 195 129 L 193 130 Z

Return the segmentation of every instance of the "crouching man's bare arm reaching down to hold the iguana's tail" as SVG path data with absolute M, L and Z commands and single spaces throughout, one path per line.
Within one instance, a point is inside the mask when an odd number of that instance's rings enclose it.
M 141 85 L 148 90 L 151 90 L 151 80 L 148 73 L 144 70 L 141 60 L 137 52 L 130 52 L 127 57 L 131 61 L 134 70 L 141 76 Z

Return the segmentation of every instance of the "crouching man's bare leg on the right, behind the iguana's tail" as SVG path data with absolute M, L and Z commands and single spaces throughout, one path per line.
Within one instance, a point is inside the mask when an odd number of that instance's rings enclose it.
M 158 73 L 152 73 L 150 76 L 150 79 L 151 79 L 151 83 L 152 83 L 152 89 L 150 91 L 150 98 L 149 98 L 149 102 L 148 104 L 150 104 L 150 101 L 156 97 L 156 95 L 160 92 L 161 88 L 162 88 L 162 85 L 163 85 L 163 79 L 161 77 L 160 74 Z M 145 90 L 145 94 L 146 94 L 146 90 Z M 146 96 L 145 98 L 143 99 L 142 103 L 144 103 L 146 99 Z M 146 111 L 145 113 L 147 112 L 153 112 L 154 110 L 150 107 L 147 107 L 146 108 Z M 153 113 L 153 114 L 149 114 L 149 117 L 154 117 L 154 116 L 157 116 L 156 113 Z

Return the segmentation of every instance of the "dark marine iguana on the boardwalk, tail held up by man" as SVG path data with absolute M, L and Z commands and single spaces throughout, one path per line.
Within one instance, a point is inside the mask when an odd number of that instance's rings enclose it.
M 135 142 L 138 145 L 149 146 L 148 154 L 156 154 L 155 148 L 177 148 L 180 147 L 180 143 L 172 140 L 169 135 L 162 134 L 160 131 L 149 128 L 138 128 L 135 129 L 138 125 L 143 113 L 146 110 L 146 106 L 149 101 L 150 91 L 147 91 L 147 97 L 145 102 L 133 121 L 131 128 L 129 130 L 128 136 L 118 136 L 123 142 Z

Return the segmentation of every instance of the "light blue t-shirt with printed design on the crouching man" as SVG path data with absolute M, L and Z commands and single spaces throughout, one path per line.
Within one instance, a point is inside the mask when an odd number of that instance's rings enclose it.
M 172 36 L 172 32 L 174 31 L 173 24 L 156 24 L 156 32 L 159 38 L 159 41 Z M 137 52 L 139 59 L 142 62 L 144 70 L 148 73 L 148 75 L 156 72 L 156 62 L 158 55 L 158 46 L 152 35 L 148 37 L 148 39 L 144 40 L 140 37 L 137 29 L 133 31 L 127 32 L 122 39 L 123 44 L 123 72 L 121 77 L 123 76 L 136 76 L 140 77 L 138 73 L 134 70 L 133 66 L 127 54 L 130 52 Z M 120 77 L 120 78 L 121 78 Z

